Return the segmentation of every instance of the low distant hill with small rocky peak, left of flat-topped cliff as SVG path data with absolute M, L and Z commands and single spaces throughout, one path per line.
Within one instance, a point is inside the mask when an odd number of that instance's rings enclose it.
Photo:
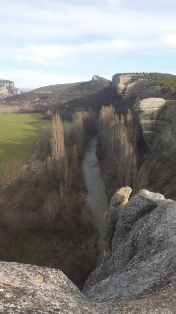
M 47 103 L 61 103 L 95 94 L 100 89 L 108 86 L 111 81 L 94 75 L 89 82 L 79 82 L 72 84 L 56 84 L 40 87 L 21 95 L 9 97 L 9 101 L 24 101 L 24 100 L 43 100 Z

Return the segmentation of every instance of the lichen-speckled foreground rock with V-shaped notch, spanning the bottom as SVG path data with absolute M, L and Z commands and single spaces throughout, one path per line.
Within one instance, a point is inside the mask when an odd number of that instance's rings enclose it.
M 118 194 L 111 206 L 121 204 Z M 142 190 L 117 219 L 112 256 L 91 273 L 83 294 L 57 269 L 0 262 L 0 312 L 175 313 L 176 202 Z

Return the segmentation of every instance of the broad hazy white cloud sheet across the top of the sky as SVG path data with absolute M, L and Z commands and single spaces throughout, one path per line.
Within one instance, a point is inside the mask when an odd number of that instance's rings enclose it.
M 153 5 L 141 8 L 139 1 L 135 1 L 135 7 L 127 0 L 97 3 L 6 0 L 0 12 L 1 38 L 70 41 L 85 36 L 113 39 L 118 35 L 135 39 L 176 30 L 175 14 L 161 11 L 160 6 L 156 11 Z

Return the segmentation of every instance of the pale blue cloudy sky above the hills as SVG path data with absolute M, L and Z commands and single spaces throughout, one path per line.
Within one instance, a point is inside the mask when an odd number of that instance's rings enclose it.
M 18 88 L 176 74 L 173 0 L 0 0 L 0 78 Z

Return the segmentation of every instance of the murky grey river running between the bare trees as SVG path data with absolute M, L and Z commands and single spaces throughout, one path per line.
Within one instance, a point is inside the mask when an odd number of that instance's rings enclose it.
M 87 188 L 85 203 L 91 209 L 96 229 L 99 232 L 97 242 L 98 249 L 100 250 L 97 260 L 98 266 L 103 260 L 103 234 L 105 231 L 105 220 L 102 218 L 102 214 L 108 210 L 109 201 L 105 191 L 105 182 L 101 178 L 100 166 L 96 157 L 97 143 L 98 139 L 96 136 L 91 138 L 88 150 L 84 155 L 82 167 L 85 186 Z

